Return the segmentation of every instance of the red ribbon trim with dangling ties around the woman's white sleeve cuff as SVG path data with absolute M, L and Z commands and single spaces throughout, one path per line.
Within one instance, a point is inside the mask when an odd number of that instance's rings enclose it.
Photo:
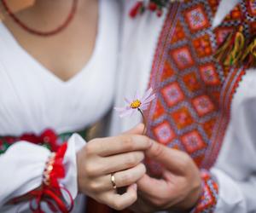
M 12 200 L 19 203 L 22 198 L 30 199 L 30 209 L 34 213 L 44 213 L 42 204 L 46 203 L 52 212 L 67 213 L 73 209 L 73 198 L 67 188 L 59 184 L 59 179 L 65 176 L 63 158 L 67 151 L 67 143 L 64 143 L 56 153 L 52 153 L 44 169 L 42 186 L 25 195 Z M 67 206 L 62 193 L 67 193 L 70 205 Z

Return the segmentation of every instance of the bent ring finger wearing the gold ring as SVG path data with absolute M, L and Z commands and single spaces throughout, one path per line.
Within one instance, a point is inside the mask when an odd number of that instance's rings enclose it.
M 137 166 L 129 170 L 116 172 L 113 174 L 115 185 L 116 187 L 130 186 L 131 184 L 137 182 L 140 178 L 142 178 L 145 172 L 146 168 L 144 164 L 138 164 Z M 98 177 L 94 180 L 94 182 L 94 190 L 98 192 L 109 191 L 113 189 L 111 175 Z

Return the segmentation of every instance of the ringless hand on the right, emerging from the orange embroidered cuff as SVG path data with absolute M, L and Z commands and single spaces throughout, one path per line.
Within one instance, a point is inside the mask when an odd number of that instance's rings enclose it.
M 144 175 L 137 181 L 139 198 L 132 210 L 145 213 L 156 210 L 188 212 L 201 196 L 201 176 L 187 153 L 156 142 L 146 151 L 148 158 L 165 167 L 161 179 Z

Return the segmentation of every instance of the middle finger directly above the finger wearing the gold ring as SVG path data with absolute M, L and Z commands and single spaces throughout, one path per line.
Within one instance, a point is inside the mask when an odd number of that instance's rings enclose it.
M 118 155 L 101 158 L 102 174 L 111 174 L 119 170 L 130 169 L 143 161 L 143 152 L 122 153 Z M 100 174 L 99 174 L 100 175 Z

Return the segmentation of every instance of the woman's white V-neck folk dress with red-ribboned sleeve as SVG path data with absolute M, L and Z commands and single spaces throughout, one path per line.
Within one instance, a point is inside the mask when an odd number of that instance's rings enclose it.
M 76 153 L 85 141 L 73 132 L 96 123 L 113 102 L 119 5 L 99 5 L 93 55 L 67 82 L 0 23 L 0 212 L 67 212 L 77 197 Z

